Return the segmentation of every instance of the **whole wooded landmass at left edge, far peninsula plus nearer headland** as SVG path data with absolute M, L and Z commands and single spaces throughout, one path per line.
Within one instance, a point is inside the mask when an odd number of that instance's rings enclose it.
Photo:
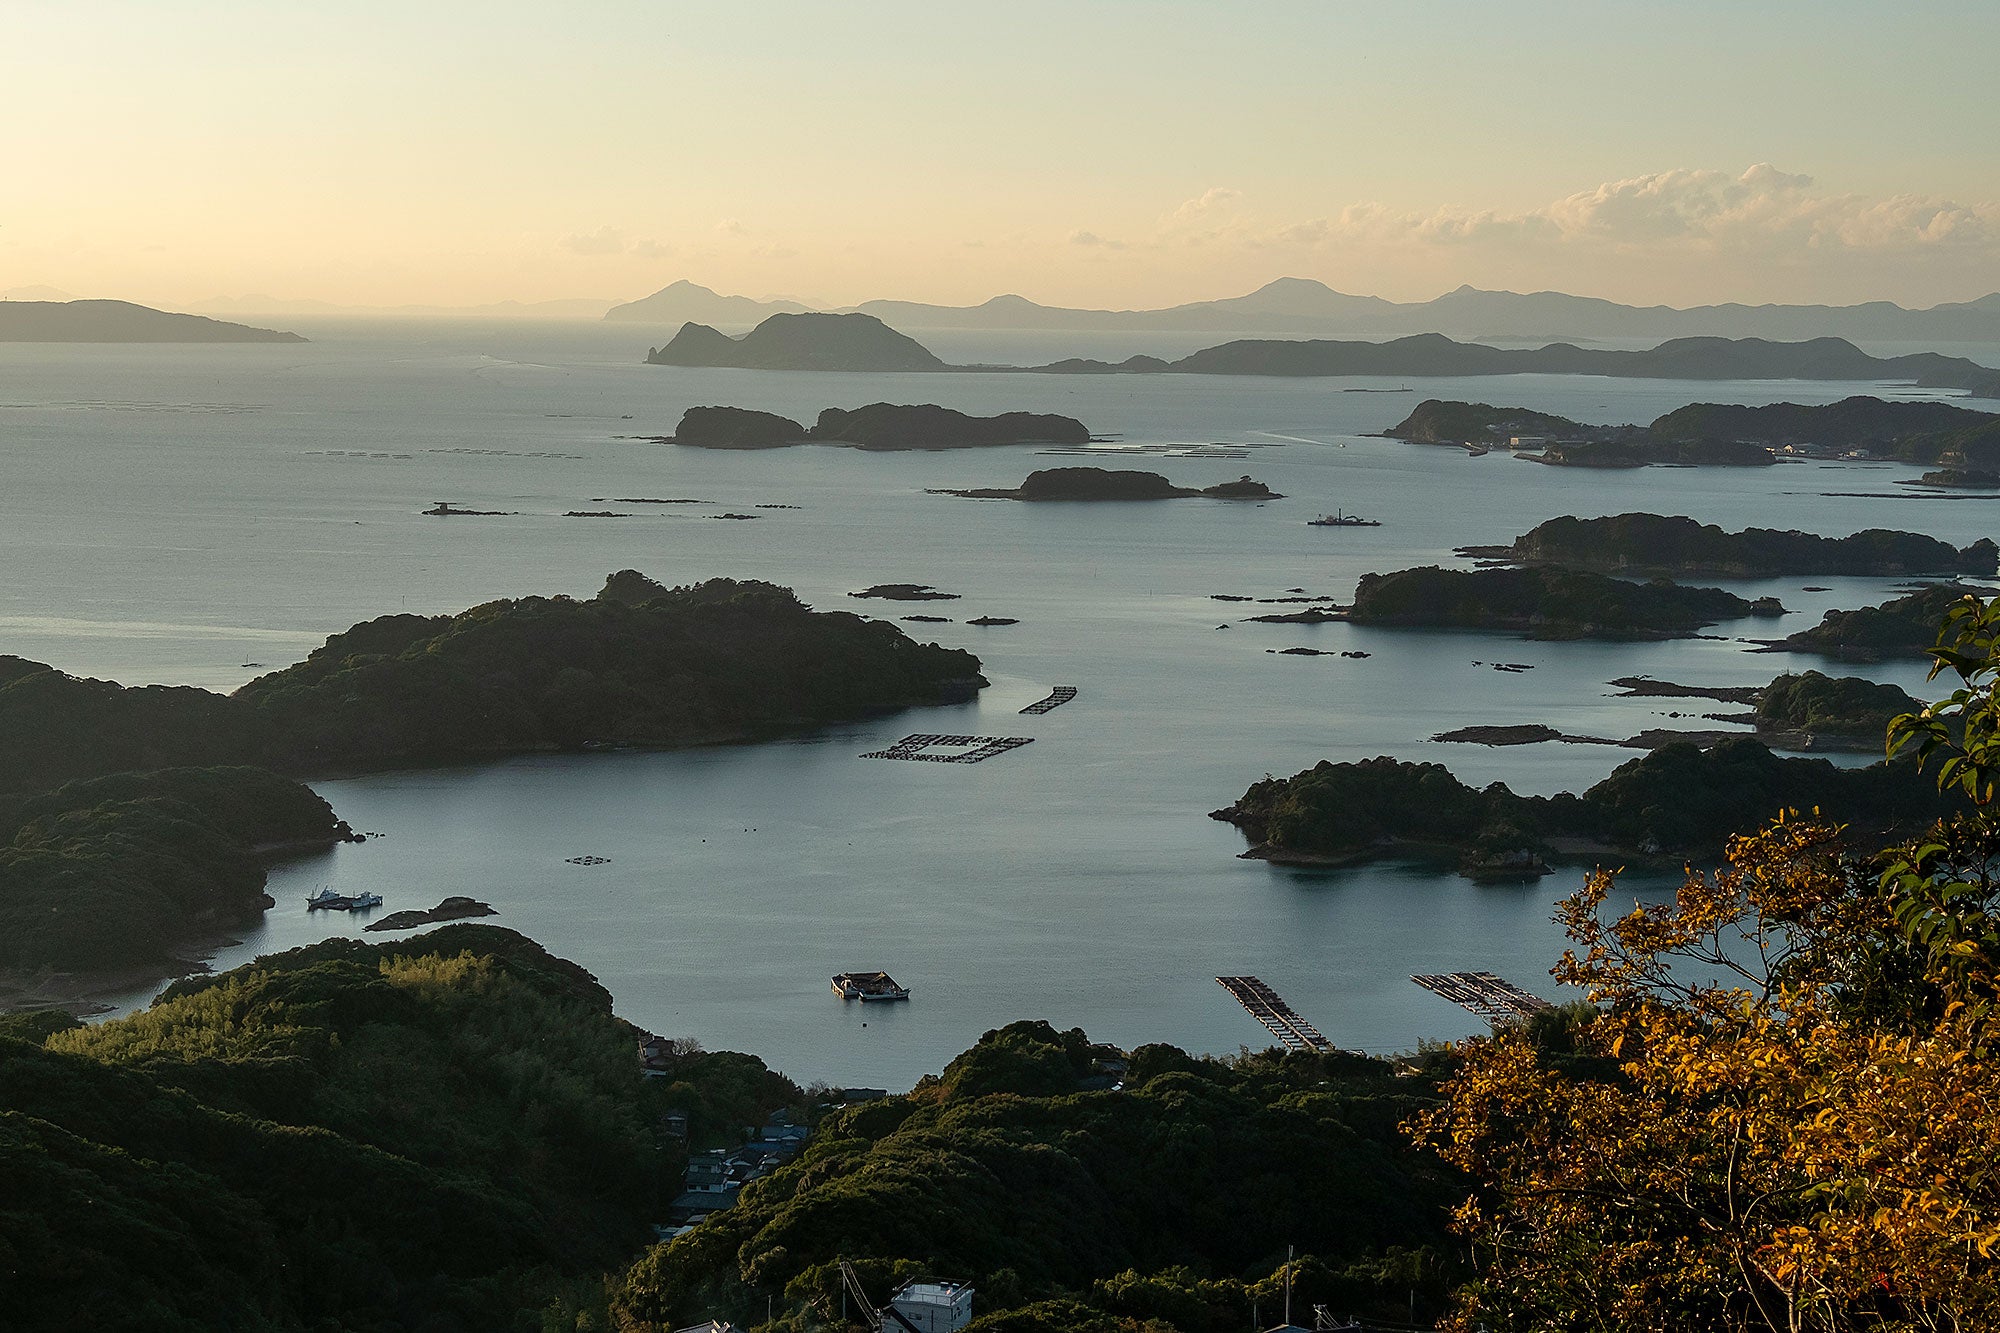
M 0 1001 L 44 969 L 170 971 L 254 921 L 260 853 L 348 837 L 298 777 L 752 741 L 984 685 L 970 652 L 788 588 L 636 570 L 590 600 L 368 620 L 234 695 L 0 658 Z

